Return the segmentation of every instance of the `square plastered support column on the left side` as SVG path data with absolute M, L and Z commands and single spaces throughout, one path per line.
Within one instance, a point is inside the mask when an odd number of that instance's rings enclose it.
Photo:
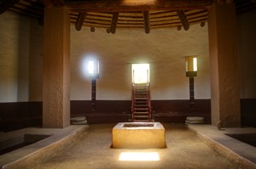
M 65 7 L 44 9 L 43 127 L 70 125 L 70 17 Z

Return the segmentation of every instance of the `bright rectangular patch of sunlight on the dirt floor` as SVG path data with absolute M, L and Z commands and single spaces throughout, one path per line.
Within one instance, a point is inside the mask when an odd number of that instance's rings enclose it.
M 157 152 L 123 152 L 119 155 L 119 161 L 159 161 Z

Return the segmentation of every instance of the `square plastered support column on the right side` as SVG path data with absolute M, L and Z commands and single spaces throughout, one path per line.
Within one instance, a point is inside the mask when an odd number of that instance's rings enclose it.
M 212 125 L 240 127 L 240 88 L 234 3 L 213 3 L 208 32 L 211 69 Z

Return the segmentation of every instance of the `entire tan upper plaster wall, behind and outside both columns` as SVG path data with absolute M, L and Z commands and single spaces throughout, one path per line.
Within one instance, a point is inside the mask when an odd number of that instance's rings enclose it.
M 255 57 L 253 44 L 255 10 L 238 15 L 241 98 L 255 98 Z M 6 21 L 8 20 L 8 21 Z M 5 12 L 0 15 L 0 102 L 41 101 L 43 95 L 43 30 L 38 20 Z M 198 54 L 195 99 L 210 99 L 208 33 L 191 25 L 189 31 L 176 28 L 120 30 L 71 25 L 71 99 L 90 100 L 90 79 L 82 74 L 87 54 L 100 59 L 97 98 L 131 98 L 131 63 L 148 62 L 151 69 L 152 99 L 189 99 L 189 79 L 185 77 L 185 55 Z

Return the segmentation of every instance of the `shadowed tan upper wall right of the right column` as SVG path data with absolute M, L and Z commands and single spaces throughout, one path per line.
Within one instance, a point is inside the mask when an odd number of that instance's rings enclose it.
M 241 99 L 256 98 L 256 9 L 247 13 L 239 14 L 237 17 L 238 23 L 238 54 L 240 63 L 241 77 Z

